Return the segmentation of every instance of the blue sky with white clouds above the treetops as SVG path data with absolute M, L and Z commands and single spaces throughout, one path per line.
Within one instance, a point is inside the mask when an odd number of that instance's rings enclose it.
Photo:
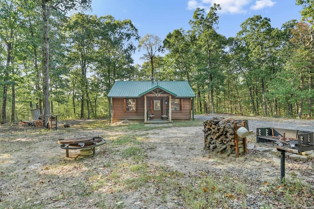
M 301 18 L 302 7 L 295 5 L 295 0 L 92 0 L 90 14 L 130 19 L 141 37 L 152 34 L 163 40 L 175 29 L 190 29 L 188 22 L 195 9 L 208 11 L 213 3 L 221 6 L 217 31 L 227 38 L 235 37 L 240 24 L 254 15 L 270 18 L 272 27 L 278 28 L 289 20 Z M 135 63 L 142 64 L 140 55 L 137 52 L 133 56 Z

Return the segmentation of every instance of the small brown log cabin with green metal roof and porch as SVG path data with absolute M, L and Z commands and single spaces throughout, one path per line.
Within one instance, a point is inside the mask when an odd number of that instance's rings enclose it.
M 194 119 L 195 94 L 187 81 L 116 81 L 107 97 L 110 122 Z

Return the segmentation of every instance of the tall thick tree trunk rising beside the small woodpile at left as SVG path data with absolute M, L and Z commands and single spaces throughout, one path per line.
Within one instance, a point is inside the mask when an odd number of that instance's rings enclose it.
M 47 6 L 46 0 L 42 0 L 42 10 L 43 10 L 43 29 L 44 29 L 44 126 L 48 122 L 48 117 L 50 115 L 49 108 L 49 34 L 48 34 L 48 19 L 49 19 L 49 8 Z

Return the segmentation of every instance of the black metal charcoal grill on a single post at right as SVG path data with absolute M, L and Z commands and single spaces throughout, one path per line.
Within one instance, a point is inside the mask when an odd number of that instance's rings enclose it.
M 313 132 L 281 128 L 257 128 L 256 142 L 273 145 L 281 152 L 280 180 L 285 178 L 286 152 L 299 154 L 314 148 Z

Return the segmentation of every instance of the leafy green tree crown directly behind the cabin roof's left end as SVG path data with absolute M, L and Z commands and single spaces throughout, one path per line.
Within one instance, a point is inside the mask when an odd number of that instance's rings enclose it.
M 135 52 L 134 42 L 140 37 L 131 20 L 115 20 L 107 15 L 99 18 L 100 34 L 97 63 L 94 71 L 102 80 L 101 89 L 107 95 L 115 80 L 131 80 L 135 69 L 131 55 Z

